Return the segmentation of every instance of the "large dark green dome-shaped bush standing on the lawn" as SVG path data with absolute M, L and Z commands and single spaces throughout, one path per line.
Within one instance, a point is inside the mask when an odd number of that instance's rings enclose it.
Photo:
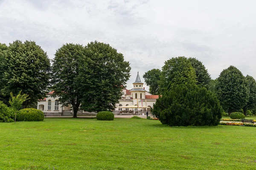
M 157 99 L 153 113 L 170 126 L 217 126 L 220 103 L 212 92 L 195 84 L 172 86 Z

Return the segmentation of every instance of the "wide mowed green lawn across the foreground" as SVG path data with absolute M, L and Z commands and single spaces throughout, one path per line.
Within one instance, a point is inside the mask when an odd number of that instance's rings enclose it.
M 253 170 L 255 134 L 148 119 L 0 123 L 0 170 Z

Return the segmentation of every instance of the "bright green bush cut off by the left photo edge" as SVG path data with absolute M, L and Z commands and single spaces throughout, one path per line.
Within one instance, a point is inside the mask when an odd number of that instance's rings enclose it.
M 15 113 L 11 108 L 8 108 L 2 101 L 0 101 L 0 122 L 14 122 Z

